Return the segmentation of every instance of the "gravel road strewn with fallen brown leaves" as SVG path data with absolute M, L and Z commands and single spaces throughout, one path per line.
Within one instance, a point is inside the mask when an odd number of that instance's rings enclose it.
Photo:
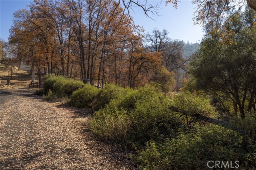
M 0 92 L 0 167 L 4 169 L 135 169 L 120 145 L 99 141 L 86 109 L 46 102 L 28 89 Z

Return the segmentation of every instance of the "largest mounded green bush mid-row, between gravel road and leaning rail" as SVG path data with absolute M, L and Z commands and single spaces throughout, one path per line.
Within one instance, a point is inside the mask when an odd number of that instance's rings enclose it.
M 102 139 L 144 146 L 148 140 L 172 138 L 182 123 L 156 85 L 126 88 L 104 109 L 94 113 L 92 131 Z

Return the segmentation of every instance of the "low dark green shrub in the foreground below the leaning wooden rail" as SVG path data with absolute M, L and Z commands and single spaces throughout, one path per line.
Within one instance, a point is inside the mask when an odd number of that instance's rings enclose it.
M 197 132 L 181 133 L 176 139 L 166 139 L 162 145 L 147 143 L 136 157 L 139 169 L 191 170 L 207 169 L 209 160 L 242 162 L 242 137 L 222 127 L 201 127 Z

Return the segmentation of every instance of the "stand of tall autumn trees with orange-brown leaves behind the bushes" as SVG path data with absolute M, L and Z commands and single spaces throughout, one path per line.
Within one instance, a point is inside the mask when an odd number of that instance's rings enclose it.
M 35 0 L 29 7 L 14 13 L 8 44 L 17 67 L 32 65 L 39 79 L 44 72 L 101 87 L 116 83 L 134 88 L 157 81 L 168 83 L 168 91 L 178 90 L 198 48 L 198 43 L 171 40 L 167 30 L 145 35 L 115 0 Z M 161 65 L 169 73 L 159 73 Z M 168 76 L 156 80 L 159 74 Z

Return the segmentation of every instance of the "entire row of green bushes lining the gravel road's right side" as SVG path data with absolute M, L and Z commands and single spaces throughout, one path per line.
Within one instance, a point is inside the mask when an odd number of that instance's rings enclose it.
M 139 169 L 206 169 L 209 160 L 238 160 L 243 168 L 256 167 L 256 144 L 246 152 L 237 132 L 215 125 L 186 126 L 180 119 L 184 112 L 190 118 L 195 114 L 213 116 L 216 111 L 207 96 L 182 91 L 170 99 L 164 97 L 157 84 L 137 89 L 112 84 L 97 89 L 86 84 L 78 89 L 82 84 L 50 77 L 46 80 L 45 98 L 56 100 L 72 93 L 69 105 L 98 110 L 90 121 L 91 130 L 102 140 L 136 148 L 134 160 Z M 174 112 L 171 107 L 183 112 Z M 255 119 L 246 120 L 241 123 L 255 128 Z

